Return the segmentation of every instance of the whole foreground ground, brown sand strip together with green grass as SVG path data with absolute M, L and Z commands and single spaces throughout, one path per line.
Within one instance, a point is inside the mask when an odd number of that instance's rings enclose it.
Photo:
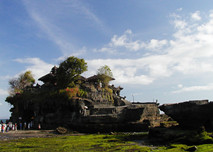
M 181 152 L 194 145 L 152 145 L 147 133 L 58 135 L 53 131 L 13 131 L 0 133 L 0 151 L 127 151 L 127 152 Z M 196 152 L 212 152 L 213 144 L 196 145 Z

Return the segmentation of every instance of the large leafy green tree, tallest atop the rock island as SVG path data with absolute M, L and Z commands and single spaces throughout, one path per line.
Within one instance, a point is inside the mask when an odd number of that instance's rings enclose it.
M 68 57 L 65 61 L 60 63 L 56 72 L 57 84 L 61 88 L 67 86 L 74 86 L 75 81 L 81 73 L 87 71 L 87 63 L 84 59 L 77 57 Z

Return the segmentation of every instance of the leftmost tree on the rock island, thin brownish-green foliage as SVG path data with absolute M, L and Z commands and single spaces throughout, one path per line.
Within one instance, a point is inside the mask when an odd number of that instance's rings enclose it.
M 16 93 L 22 93 L 23 89 L 27 86 L 31 86 L 35 83 L 31 71 L 26 71 L 19 75 L 18 78 L 13 78 L 9 80 L 10 85 L 10 95 L 15 95 Z

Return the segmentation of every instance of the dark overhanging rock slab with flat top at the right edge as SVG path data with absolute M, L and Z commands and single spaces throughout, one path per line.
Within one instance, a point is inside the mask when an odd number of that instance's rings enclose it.
M 159 108 L 184 128 L 213 129 L 213 102 L 208 100 L 164 104 Z

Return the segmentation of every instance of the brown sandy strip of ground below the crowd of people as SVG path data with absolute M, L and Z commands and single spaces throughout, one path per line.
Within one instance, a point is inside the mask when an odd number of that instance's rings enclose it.
M 18 130 L 0 133 L 0 140 L 24 139 L 31 137 L 56 136 L 53 130 Z

